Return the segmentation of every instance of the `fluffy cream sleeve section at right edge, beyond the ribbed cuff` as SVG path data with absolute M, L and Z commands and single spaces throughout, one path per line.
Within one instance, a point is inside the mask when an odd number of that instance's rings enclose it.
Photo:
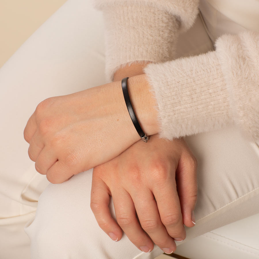
M 245 137 L 259 140 L 259 32 L 222 35 L 215 45 L 233 119 Z

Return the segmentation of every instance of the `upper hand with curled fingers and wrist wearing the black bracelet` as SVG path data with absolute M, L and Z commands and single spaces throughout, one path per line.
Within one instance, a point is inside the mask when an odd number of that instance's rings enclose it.
M 140 126 L 157 133 L 155 99 L 146 75 L 128 79 Z M 123 97 L 121 81 L 40 102 L 24 129 L 28 155 L 49 182 L 62 183 L 121 154 L 140 140 Z

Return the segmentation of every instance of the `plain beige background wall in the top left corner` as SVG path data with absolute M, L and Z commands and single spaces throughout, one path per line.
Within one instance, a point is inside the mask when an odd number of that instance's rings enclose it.
M 0 0 L 0 67 L 66 0 Z

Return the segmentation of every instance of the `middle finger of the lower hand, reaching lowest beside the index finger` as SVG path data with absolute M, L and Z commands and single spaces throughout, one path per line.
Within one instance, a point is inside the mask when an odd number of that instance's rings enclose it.
M 156 245 L 165 253 L 171 254 L 176 250 L 176 244 L 161 222 L 153 193 L 148 190 L 148 192 L 138 191 L 135 194 L 132 199 L 142 228 Z

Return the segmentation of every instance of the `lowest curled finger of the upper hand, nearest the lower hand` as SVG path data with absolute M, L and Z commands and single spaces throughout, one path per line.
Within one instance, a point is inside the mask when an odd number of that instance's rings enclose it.
M 58 160 L 47 170 L 46 177 L 49 182 L 53 184 L 58 184 L 65 182 L 74 174 L 76 174 L 75 170 L 72 170 L 62 161 Z

